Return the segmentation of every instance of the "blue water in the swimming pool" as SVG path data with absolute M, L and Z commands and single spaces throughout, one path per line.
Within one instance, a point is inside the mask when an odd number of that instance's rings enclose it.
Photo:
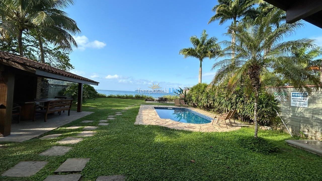
M 212 118 L 188 108 L 154 107 L 161 119 L 171 119 L 183 123 L 205 124 Z

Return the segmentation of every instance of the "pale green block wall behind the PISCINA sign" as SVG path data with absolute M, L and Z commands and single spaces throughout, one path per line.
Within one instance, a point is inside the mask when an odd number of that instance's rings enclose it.
M 290 92 L 297 92 L 288 88 Z M 280 101 L 280 115 L 292 134 L 303 132 L 308 139 L 322 139 L 322 93 L 317 92 L 308 98 L 308 108 L 290 106 L 287 101 Z M 285 129 L 285 128 L 284 128 Z M 287 131 L 285 129 L 285 131 Z

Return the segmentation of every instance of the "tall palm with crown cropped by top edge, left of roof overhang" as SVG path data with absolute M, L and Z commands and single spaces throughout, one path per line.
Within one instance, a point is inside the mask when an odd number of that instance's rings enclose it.
M 208 24 L 219 20 L 219 24 L 222 25 L 226 21 L 232 20 L 231 26 L 236 26 L 240 18 L 252 14 L 253 6 L 261 2 L 261 0 L 218 0 L 218 5 L 212 9 L 215 15 L 210 18 Z M 232 33 L 232 43 L 235 43 L 234 31 L 229 28 L 228 33 Z

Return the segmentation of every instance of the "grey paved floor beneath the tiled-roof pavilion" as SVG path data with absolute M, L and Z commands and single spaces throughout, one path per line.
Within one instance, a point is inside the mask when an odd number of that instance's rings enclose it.
M 68 111 L 65 111 L 64 113 L 62 112 L 62 115 L 58 115 L 57 113 L 54 115 L 48 115 L 46 122 L 43 121 L 43 117 L 40 117 L 35 121 L 20 121 L 20 123 L 12 124 L 11 135 L 0 138 L 0 141 L 22 142 L 42 135 L 52 129 L 56 129 L 91 113 L 93 112 L 71 111 L 71 115 L 68 116 Z

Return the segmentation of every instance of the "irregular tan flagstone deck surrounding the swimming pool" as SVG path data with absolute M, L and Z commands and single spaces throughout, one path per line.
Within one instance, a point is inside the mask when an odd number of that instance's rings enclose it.
M 159 115 L 157 114 L 154 107 L 171 107 L 174 108 L 175 106 L 161 106 L 161 105 L 141 105 L 140 110 L 137 114 L 137 118 L 134 124 L 140 124 L 140 125 L 158 125 L 158 126 L 165 126 L 172 129 L 182 129 L 182 130 L 188 130 L 188 131 L 202 131 L 202 132 L 224 132 L 224 131 L 232 131 L 232 130 L 238 130 L 242 127 L 249 126 L 247 124 L 243 124 L 236 121 L 236 124 L 233 123 L 232 120 L 232 126 L 228 123 L 229 121 L 226 120 L 228 129 L 226 128 L 224 121 L 219 121 L 218 124 L 215 123 L 212 124 L 206 123 L 206 124 L 190 124 L 190 123 L 182 123 L 178 121 L 174 121 L 171 119 L 161 119 Z M 199 112 L 201 114 L 204 114 L 209 117 L 214 117 L 215 114 L 200 110 L 197 108 L 189 107 L 188 109 L 194 110 L 196 112 Z

